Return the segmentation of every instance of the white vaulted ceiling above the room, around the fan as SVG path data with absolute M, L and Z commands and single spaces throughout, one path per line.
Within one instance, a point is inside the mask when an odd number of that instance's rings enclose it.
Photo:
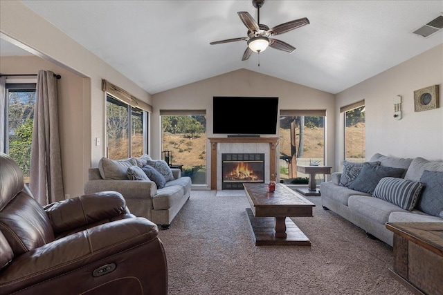
M 338 93 L 443 43 L 443 30 L 413 34 L 443 15 L 441 0 L 267 0 L 260 23 L 310 24 L 275 36 L 293 53 L 268 48 L 246 61 L 245 41 L 209 43 L 247 36 L 237 12 L 257 20 L 251 0 L 21 2 L 151 94 L 239 68 Z M 1 55 L 14 55 L 4 41 Z

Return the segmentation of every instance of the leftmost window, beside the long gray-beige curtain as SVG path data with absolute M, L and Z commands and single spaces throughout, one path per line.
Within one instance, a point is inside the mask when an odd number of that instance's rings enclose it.
M 3 97 L 2 97 L 3 99 Z M 30 147 L 33 140 L 35 84 L 6 84 L 5 152 L 23 171 L 29 183 Z M 6 117 L 6 116 L 5 116 Z

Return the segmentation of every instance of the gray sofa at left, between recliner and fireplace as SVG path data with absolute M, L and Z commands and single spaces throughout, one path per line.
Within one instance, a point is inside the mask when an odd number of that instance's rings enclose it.
M 162 229 L 168 229 L 183 204 L 190 198 L 191 179 L 182 177 L 180 169 L 170 169 L 171 180 L 159 189 L 152 180 L 129 180 L 127 168 L 143 167 L 152 161 L 149 155 L 125 160 L 102 158 L 98 168 L 89 169 L 89 180 L 84 184 L 84 193 L 118 191 L 129 211 L 135 216 L 151 220 Z

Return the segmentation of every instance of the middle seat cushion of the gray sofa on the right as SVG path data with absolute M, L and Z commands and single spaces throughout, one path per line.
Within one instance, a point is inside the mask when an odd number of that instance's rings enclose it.
M 388 222 L 389 215 L 393 211 L 409 212 L 391 202 L 372 196 L 350 196 L 348 206 L 354 211 L 355 216 L 365 216 L 365 218 L 370 218 L 381 225 Z

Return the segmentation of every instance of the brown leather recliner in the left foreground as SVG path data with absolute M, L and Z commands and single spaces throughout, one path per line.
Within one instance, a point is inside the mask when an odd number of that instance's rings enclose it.
M 42 207 L 0 154 L 0 294 L 168 294 L 158 233 L 114 191 Z

